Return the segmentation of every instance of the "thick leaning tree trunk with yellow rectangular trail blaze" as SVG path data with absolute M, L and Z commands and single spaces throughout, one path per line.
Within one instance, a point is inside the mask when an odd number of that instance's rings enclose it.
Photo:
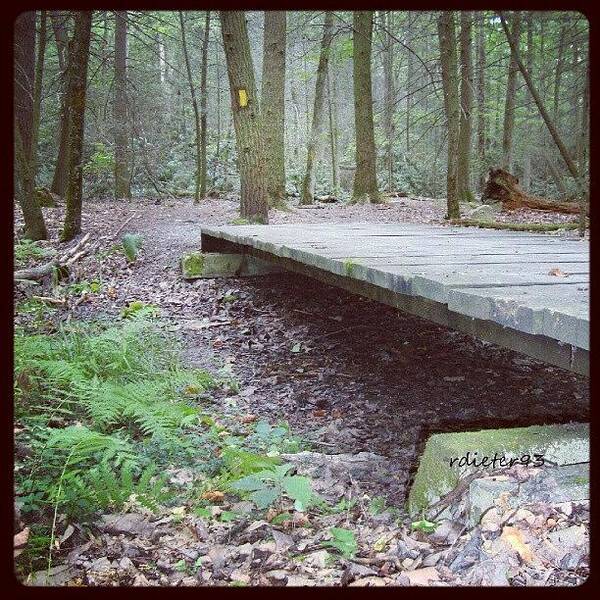
M 220 20 L 240 172 L 240 213 L 250 221 L 268 223 L 262 118 L 246 17 L 243 11 L 220 11 Z

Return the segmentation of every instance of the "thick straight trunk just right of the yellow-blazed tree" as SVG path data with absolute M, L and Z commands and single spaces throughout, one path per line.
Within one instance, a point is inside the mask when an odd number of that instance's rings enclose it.
M 265 11 L 261 112 L 271 206 L 285 205 L 285 54 L 286 13 Z

